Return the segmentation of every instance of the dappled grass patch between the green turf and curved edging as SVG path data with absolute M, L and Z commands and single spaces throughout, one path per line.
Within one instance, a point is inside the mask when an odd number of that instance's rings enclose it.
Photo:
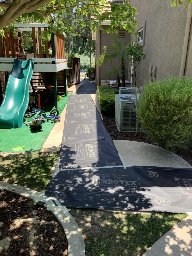
M 1 153 L 0 180 L 40 191 L 51 180 L 51 168 L 59 156 L 56 153 Z

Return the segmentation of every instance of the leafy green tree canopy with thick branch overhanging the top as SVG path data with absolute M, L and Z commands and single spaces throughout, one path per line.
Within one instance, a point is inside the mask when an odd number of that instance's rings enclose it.
M 192 0 L 170 0 L 173 7 L 183 5 L 187 8 L 187 3 L 192 3 Z M 0 0 L 0 35 L 4 36 L 6 30 L 14 30 L 15 22 L 24 23 L 26 20 L 49 23 L 49 34 L 58 30 L 70 33 L 71 12 L 80 17 L 78 22 L 82 27 L 86 24 L 81 15 L 91 14 L 92 22 L 89 27 L 93 30 L 100 28 L 104 32 L 101 23 L 110 20 L 106 33 L 118 33 L 117 28 L 120 28 L 136 34 L 138 24 L 135 16 L 138 13 L 128 0 L 121 4 L 110 0 Z M 54 15 L 50 17 L 50 14 Z M 53 20 L 55 25 L 51 23 Z

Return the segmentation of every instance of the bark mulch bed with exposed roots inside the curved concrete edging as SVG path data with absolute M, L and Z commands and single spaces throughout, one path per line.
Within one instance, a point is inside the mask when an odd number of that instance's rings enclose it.
M 67 255 L 65 234 L 49 211 L 0 191 L 0 243 L 6 237 L 10 245 L 2 256 Z

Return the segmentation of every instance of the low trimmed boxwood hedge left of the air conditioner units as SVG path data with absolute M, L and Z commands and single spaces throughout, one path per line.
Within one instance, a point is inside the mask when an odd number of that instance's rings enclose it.
M 111 86 L 98 86 L 99 106 L 102 113 L 114 115 L 115 112 L 115 94 L 119 90 Z

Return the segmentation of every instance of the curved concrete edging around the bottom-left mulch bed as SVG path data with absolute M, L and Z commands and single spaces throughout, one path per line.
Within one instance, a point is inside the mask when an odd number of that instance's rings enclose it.
M 35 203 L 39 201 L 46 203 L 47 210 L 57 219 L 66 235 L 68 243 L 67 256 L 85 256 L 85 243 L 81 230 L 66 207 L 51 205 L 48 200 L 54 198 L 47 197 L 44 193 L 17 184 L 0 181 L 0 190 L 14 193 Z

